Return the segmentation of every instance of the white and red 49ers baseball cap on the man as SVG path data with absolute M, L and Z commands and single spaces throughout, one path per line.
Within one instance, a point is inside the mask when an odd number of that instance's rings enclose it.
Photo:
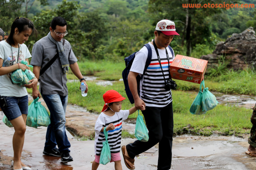
M 176 32 L 174 22 L 163 19 L 157 22 L 156 30 L 161 31 L 165 35 L 180 35 Z

